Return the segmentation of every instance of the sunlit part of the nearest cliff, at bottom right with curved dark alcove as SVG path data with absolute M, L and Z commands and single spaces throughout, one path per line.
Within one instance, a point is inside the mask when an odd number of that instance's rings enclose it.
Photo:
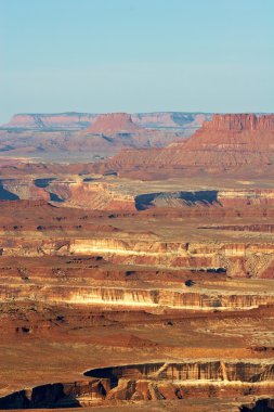
M 159 400 L 186 397 L 225 397 L 249 390 L 273 390 L 273 364 L 219 360 L 147 363 L 89 371 L 90 376 L 112 376 L 106 399 Z M 208 385 L 211 387 L 208 387 Z M 203 388 L 203 390 L 201 390 Z

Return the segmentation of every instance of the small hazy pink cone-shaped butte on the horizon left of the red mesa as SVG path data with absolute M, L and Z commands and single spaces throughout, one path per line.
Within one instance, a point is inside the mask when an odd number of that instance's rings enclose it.
M 145 132 L 145 129 L 134 124 L 131 115 L 127 113 L 109 113 L 99 116 L 95 121 L 88 127 L 87 131 L 90 133 L 110 136 L 122 132 Z

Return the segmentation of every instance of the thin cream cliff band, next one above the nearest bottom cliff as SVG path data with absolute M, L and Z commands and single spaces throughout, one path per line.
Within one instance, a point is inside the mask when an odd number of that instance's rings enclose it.
M 53 304 L 103 305 L 122 307 L 168 307 L 177 309 L 223 309 L 249 310 L 263 305 L 273 305 L 274 295 L 256 294 L 206 294 L 187 292 L 186 289 L 164 288 L 126 288 L 92 287 L 62 285 L 11 284 L 1 285 L 0 301 L 36 300 Z

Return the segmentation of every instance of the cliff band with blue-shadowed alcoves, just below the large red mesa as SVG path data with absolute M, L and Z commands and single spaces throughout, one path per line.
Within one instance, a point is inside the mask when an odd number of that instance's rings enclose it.
M 177 186 L 180 188 L 180 183 L 177 183 Z M 157 208 L 166 209 L 170 216 L 177 210 L 182 216 L 190 217 L 199 215 L 272 217 L 274 215 L 273 189 L 170 192 L 164 185 L 162 192 L 145 193 L 143 184 L 131 186 L 126 179 L 121 181 L 116 176 L 101 175 L 74 177 L 64 175 L 62 177 L 56 173 L 38 179 L 32 175 L 26 178 L 3 178 L 0 181 L 0 199 L 44 199 L 64 203 L 66 207 L 116 213 Z

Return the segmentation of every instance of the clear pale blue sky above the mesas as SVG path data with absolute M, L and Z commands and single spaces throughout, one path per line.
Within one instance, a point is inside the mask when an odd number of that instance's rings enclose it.
M 274 0 L 0 0 L 14 113 L 274 112 Z

